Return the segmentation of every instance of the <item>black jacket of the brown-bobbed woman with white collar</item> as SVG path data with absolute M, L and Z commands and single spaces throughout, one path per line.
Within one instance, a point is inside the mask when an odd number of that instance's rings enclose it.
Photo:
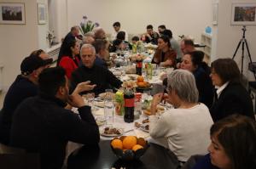
M 252 99 L 240 83 L 230 82 L 218 99 L 214 99 L 210 112 L 213 121 L 233 114 L 247 115 L 254 120 Z

